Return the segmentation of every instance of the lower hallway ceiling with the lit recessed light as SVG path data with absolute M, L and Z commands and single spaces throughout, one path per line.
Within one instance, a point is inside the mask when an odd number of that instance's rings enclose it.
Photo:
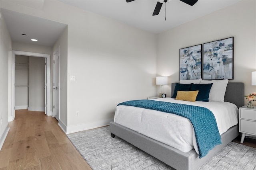
M 12 41 L 44 46 L 53 46 L 67 26 L 64 23 L 20 14 L 1 9 Z M 26 34 L 26 36 L 22 35 Z M 30 39 L 37 39 L 37 42 Z

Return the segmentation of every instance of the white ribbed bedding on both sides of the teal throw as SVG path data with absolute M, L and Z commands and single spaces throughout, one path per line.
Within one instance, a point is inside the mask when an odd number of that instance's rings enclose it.
M 229 102 L 187 102 L 174 98 L 154 99 L 206 107 L 216 118 L 220 135 L 238 123 L 238 108 Z M 152 139 L 170 145 L 182 152 L 195 149 L 198 153 L 194 128 L 182 116 L 133 106 L 117 106 L 114 122 Z

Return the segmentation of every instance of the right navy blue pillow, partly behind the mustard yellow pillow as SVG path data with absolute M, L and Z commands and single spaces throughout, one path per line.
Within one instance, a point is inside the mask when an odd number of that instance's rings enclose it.
M 212 87 L 212 84 L 194 84 L 192 83 L 190 90 L 199 90 L 198 95 L 196 96 L 196 101 L 209 102 L 209 93 Z

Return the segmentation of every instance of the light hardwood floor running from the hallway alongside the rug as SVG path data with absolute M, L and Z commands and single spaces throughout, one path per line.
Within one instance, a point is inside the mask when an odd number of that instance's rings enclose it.
M 91 170 L 58 121 L 44 112 L 16 110 L 0 151 L 0 170 Z

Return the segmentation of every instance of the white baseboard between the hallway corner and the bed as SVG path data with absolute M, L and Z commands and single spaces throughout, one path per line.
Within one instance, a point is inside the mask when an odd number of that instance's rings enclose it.
M 106 126 L 106 125 L 109 125 L 110 121 L 114 121 L 114 119 L 104 119 L 104 120 L 84 123 L 80 125 L 68 126 L 66 127 L 66 134 Z

